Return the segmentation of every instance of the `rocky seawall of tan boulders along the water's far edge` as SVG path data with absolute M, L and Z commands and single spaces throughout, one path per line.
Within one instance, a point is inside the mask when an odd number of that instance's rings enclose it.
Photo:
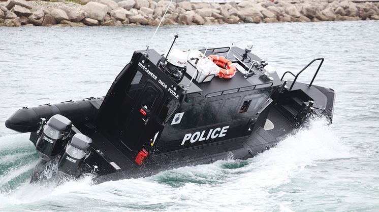
M 122 26 L 160 23 L 170 1 L 73 0 L 0 3 L 0 26 Z M 172 3 L 163 25 L 379 20 L 379 3 L 242 1 L 226 4 Z

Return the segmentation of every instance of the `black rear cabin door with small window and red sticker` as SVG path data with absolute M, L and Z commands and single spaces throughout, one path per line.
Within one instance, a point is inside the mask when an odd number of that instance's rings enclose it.
M 147 81 L 121 135 L 122 144 L 127 146 L 129 150 L 135 151 L 142 144 L 142 136 L 149 127 L 149 123 L 153 122 L 152 119 L 156 117 L 153 114 L 156 112 L 157 107 L 161 105 L 162 96 L 162 90 Z

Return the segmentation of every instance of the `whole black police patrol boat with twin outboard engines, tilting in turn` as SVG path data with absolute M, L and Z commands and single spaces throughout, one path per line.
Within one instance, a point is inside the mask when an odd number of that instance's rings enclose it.
M 105 97 L 23 107 L 6 126 L 30 133 L 36 146 L 40 162 L 31 181 L 51 171 L 92 173 L 101 183 L 231 155 L 246 159 L 310 115 L 331 123 L 335 93 L 312 84 L 323 58 L 279 77 L 251 48 L 136 51 Z M 310 82 L 296 81 L 313 62 L 319 65 Z M 283 80 L 286 74 L 293 80 Z

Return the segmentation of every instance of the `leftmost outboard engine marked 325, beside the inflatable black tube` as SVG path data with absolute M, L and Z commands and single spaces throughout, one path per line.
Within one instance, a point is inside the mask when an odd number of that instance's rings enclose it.
M 58 156 L 69 141 L 71 120 L 62 115 L 53 115 L 43 127 L 36 142 L 38 156 L 50 161 Z

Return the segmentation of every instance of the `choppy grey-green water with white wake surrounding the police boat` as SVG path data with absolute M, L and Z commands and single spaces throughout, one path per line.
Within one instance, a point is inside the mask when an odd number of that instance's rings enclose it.
M 179 33 L 183 50 L 252 41 L 280 73 L 325 57 L 314 83 L 337 93 L 333 124 L 313 120 L 247 161 L 100 185 L 90 176 L 58 187 L 28 184 L 38 157 L 28 135 L 5 128 L 7 117 L 22 106 L 105 95 L 154 29 L 0 28 L 0 210 L 379 210 L 377 21 L 162 27 L 151 45 L 162 53 Z

